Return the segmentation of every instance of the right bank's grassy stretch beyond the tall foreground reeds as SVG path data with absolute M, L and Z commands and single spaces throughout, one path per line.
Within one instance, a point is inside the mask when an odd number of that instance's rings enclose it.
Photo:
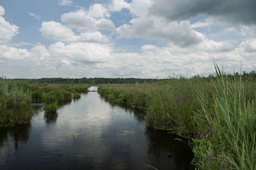
M 110 101 L 145 110 L 147 125 L 156 129 L 172 129 L 180 136 L 190 138 L 196 135 L 193 115 L 200 108 L 198 91 L 211 99 L 213 90 L 211 80 L 193 78 L 158 83 L 100 85 L 98 91 Z

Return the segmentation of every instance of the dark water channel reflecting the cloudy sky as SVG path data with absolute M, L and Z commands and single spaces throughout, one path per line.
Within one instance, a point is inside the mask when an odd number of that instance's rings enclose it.
M 0 169 L 193 169 L 184 141 L 148 129 L 141 111 L 110 104 L 97 92 L 57 113 L 33 108 L 29 124 L 0 129 Z

